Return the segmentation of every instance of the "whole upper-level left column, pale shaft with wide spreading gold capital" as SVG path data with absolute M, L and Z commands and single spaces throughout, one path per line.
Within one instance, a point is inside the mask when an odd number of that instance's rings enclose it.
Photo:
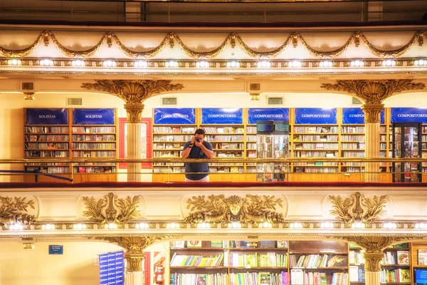
M 141 159 L 141 115 L 144 110 L 144 100 L 162 92 L 181 90 L 182 84 L 171 84 L 171 81 L 122 81 L 96 80 L 97 83 L 83 83 L 82 87 L 88 90 L 99 90 L 115 95 L 125 100 L 127 112 L 127 157 L 130 160 Z M 141 163 L 127 164 L 128 182 L 141 181 Z

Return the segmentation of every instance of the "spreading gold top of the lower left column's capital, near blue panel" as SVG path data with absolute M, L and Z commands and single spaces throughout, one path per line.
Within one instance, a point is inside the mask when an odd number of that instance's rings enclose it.
M 144 254 L 144 249 L 156 242 L 162 242 L 165 239 L 177 239 L 179 236 L 164 235 L 164 236 L 147 236 L 147 237 L 95 237 L 95 239 L 105 240 L 112 244 L 117 244 L 125 249 L 127 254 Z

